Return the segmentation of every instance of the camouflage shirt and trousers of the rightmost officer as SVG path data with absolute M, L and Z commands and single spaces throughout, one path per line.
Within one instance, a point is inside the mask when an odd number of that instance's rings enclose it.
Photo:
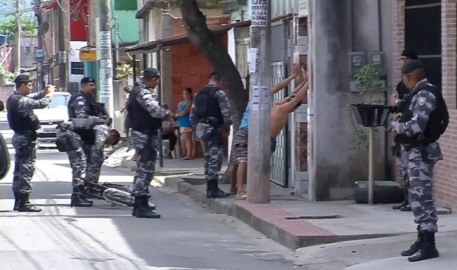
M 427 126 L 431 111 L 436 108 L 436 97 L 427 90 L 421 90 L 428 84 L 427 79 L 416 83 L 411 90 L 413 98 L 409 110 L 413 112 L 413 118 L 406 123 L 392 122 L 391 130 L 408 137 L 423 133 Z M 433 204 L 433 166 L 442 160 L 441 149 L 438 141 L 424 147 L 424 161 L 419 148 L 413 148 L 406 152 L 408 158 L 409 177 L 409 200 L 414 213 L 414 222 L 424 231 L 438 231 L 436 208 Z

